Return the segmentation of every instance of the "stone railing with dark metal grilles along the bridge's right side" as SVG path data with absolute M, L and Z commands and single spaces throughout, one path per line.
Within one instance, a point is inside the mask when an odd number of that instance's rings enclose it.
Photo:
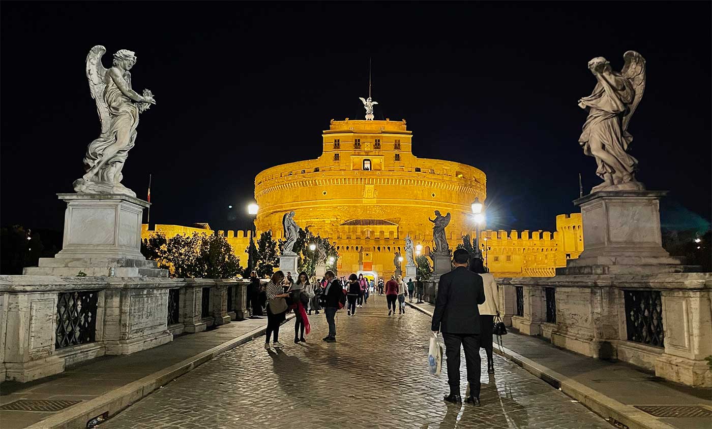
M 712 274 L 498 278 L 504 320 L 527 335 L 712 386 Z M 517 293 L 520 288 L 520 310 Z

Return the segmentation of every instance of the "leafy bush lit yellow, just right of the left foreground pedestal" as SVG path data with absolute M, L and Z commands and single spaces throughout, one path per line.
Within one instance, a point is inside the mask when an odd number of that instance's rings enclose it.
M 158 268 L 167 269 L 171 277 L 235 278 L 242 273 L 240 259 L 217 232 L 178 234 L 170 239 L 153 234 L 143 240 L 141 252 L 146 259 L 157 261 Z

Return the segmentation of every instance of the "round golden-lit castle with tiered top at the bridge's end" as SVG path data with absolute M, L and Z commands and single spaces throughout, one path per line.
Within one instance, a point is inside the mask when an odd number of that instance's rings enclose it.
M 428 219 L 435 210 L 451 213 L 446 228 L 451 249 L 470 234 L 470 207 L 475 197 L 485 200 L 485 174 L 470 165 L 414 156 L 405 120 L 332 120 L 322 137 L 319 158 L 257 175 L 258 231 L 271 229 L 281 238 L 282 217 L 294 210 L 300 227 L 335 242 L 340 275 L 375 276 L 394 273 L 394 253 L 404 256 L 407 234 L 429 254 Z

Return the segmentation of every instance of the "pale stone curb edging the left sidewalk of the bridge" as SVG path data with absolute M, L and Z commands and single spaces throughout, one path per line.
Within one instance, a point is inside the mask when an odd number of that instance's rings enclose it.
M 293 314 L 291 317 L 288 315 L 285 322 L 292 320 L 293 317 Z M 103 395 L 93 398 L 90 401 L 67 408 L 66 411 L 56 413 L 55 415 L 44 420 L 40 420 L 25 429 L 86 428 L 89 420 L 98 416 L 101 416 L 104 419 L 115 416 L 128 406 L 139 401 L 145 396 L 148 396 L 152 391 L 155 391 L 156 389 L 170 383 L 173 379 L 177 379 L 179 376 L 192 371 L 201 364 L 213 359 L 218 354 L 234 349 L 235 347 L 245 344 L 254 338 L 261 337 L 265 334 L 266 330 L 267 327 L 265 326 L 248 331 L 239 337 L 233 338 L 232 340 L 226 341 L 222 344 L 218 344 L 215 347 L 207 349 L 204 352 L 200 352 L 199 354 L 189 357 L 182 362 L 178 362 L 177 364 L 161 369 L 160 371 L 156 371 L 153 374 L 143 377 L 142 379 L 132 381 L 125 386 L 109 391 L 108 393 L 104 393 Z

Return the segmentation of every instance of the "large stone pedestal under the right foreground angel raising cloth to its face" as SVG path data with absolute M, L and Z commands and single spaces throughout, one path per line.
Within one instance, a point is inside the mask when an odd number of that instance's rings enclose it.
M 581 207 L 584 251 L 559 268 L 561 274 L 681 272 L 662 247 L 659 200 L 666 191 L 594 192 L 574 201 Z

